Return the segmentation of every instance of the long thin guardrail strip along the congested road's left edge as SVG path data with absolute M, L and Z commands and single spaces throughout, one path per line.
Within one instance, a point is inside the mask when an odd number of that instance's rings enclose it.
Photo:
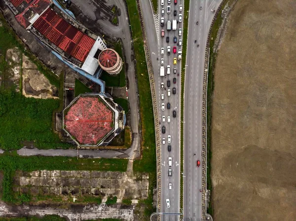
M 150 81 L 150 90 L 152 96 L 152 104 L 153 104 L 153 114 L 154 114 L 154 127 L 155 127 L 155 143 L 156 143 L 156 166 L 157 166 L 157 203 L 156 203 L 156 211 L 160 211 L 160 195 L 161 195 L 161 151 L 160 151 L 160 131 L 159 131 L 159 119 L 158 119 L 158 111 L 157 111 L 157 100 L 156 100 L 156 93 L 155 93 L 155 84 L 154 84 L 154 75 L 153 75 L 153 67 L 150 61 L 150 54 L 149 48 L 147 44 L 147 35 L 145 30 L 145 24 L 142 15 L 142 8 L 140 0 L 136 0 L 138 6 L 138 12 L 141 22 L 142 28 L 142 35 L 144 40 L 144 50 L 145 50 L 145 57 L 146 63 L 148 66 L 148 74 L 149 74 L 149 81 Z

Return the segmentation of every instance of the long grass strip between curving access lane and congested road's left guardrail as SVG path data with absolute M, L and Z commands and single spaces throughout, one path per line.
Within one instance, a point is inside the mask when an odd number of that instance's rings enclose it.
M 148 198 L 140 202 L 141 207 L 145 207 L 144 218 L 150 219 L 150 215 L 155 211 L 152 207 L 153 188 L 156 187 L 156 146 L 154 130 L 154 114 L 152 97 L 150 91 L 149 75 L 145 57 L 144 42 L 140 17 L 136 0 L 126 0 L 129 20 L 134 40 L 135 59 L 137 61 L 137 77 L 140 99 L 141 123 L 143 130 L 142 159 L 134 160 L 133 170 L 136 173 L 149 173 Z M 156 5 L 157 6 L 157 5 Z

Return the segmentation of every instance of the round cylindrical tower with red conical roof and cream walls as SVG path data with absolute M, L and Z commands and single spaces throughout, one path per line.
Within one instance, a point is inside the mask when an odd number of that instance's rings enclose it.
M 103 50 L 98 59 L 99 65 L 109 74 L 118 74 L 122 69 L 122 60 L 111 48 Z

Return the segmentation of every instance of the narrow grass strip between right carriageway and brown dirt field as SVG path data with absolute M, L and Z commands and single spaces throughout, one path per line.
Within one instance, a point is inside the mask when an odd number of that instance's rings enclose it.
M 209 58 L 209 68 L 208 68 L 208 86 L 207 86 L 207 189 L 213 192 L 212 179 L 211 179 L 211 169 L 212 169 L 212 104 L 213 104 L 213 92 L 214 92 L 214 69 L 216 63 L 217 54 L 214 53 L 214 44 L 218 35 L 219 28 L 222 24 L 222 10 L 225 7 L 227 1 L 222 5 L 221 10 L 217 16 L 217 19 L 213 25 L 210 32 L 210 58 Z M 212 197 L 211 197 L 212 198 Z M 212 205 L 212 200 L 209 202 L 209 207 L 207 213 L 210 215 L 214 214 L 214 208 Z

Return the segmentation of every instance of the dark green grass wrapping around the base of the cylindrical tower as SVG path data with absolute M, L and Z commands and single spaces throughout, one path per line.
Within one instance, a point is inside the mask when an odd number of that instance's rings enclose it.
M 119 72 L 119 74 L 112 76 L 108 74 L 106 71 L 103 71 L 100 79 L 105 81 L 106 87 L 125 87 L 126 86 L 126 80 L 125 80 L 125 64 L 124 64 L 124 58 L 122 54 L 122 44 L 120 41 L 117 42 L 114 46 L 114 50 L 118 53 L 120 58 L 122 59 L 122 69 Z

